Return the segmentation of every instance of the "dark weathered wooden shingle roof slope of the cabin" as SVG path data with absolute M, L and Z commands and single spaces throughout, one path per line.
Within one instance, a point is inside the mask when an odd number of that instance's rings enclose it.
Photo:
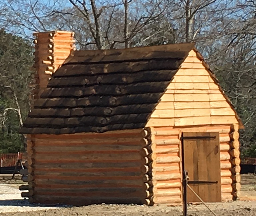
M 143 128 L 194 43 L 74 51 L 34 103 L 21 133 Z

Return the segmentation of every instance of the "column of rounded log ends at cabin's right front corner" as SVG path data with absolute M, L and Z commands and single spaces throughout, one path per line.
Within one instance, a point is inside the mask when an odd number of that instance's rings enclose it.
M 240 176 L 240 151 L 239 151 L 239 126 L 238 124 L 232 124 L 229 133 L 230 136 L 230 162 L 231 162 L 231 172 L 232 172 L 232 195 L 233 200 L 237 200 L 241 194 L 241 176 Z

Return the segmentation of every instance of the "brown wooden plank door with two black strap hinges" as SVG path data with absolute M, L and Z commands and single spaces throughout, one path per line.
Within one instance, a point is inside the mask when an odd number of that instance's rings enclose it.
M 221 201 L 219 133 L 186 132 L 182 139 L 188 184 L 203 201 Z M 187 202 L 200 202 L 189 188 Z

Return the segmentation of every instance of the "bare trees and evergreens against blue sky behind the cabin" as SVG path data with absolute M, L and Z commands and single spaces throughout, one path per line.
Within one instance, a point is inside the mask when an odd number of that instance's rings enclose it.
M 243 155 L 256 157 L 256 0 L 6 0 L 0 8 L 0 152 L 22 146 L 32 32 L 58 29 L 74 31 L 79 49 L 196 42 L 246 127 Z

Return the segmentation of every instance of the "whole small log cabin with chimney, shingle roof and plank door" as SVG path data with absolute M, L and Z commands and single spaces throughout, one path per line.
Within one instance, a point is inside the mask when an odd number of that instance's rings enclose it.
M 35 36 L 23 197 L 181 205 L 186 170 L 205 202 L 239 198 L 244 126 L 194 43 L 76 51 L 71 32 Z

